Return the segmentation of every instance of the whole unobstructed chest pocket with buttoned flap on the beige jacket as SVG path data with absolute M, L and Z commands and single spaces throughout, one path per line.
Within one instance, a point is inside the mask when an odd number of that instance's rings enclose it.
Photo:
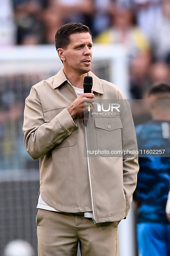
M 100 156 L 122 156 L 122 122 L 119 116 L 94 117 Z

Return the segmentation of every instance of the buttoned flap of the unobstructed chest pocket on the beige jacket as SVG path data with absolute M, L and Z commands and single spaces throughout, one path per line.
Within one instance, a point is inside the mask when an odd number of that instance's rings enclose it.
M 123 128 L 121 118 L 119 116 L 114 117 L 94 117 L 95 126 L 97 128 L 112 131 L 119 128 Z

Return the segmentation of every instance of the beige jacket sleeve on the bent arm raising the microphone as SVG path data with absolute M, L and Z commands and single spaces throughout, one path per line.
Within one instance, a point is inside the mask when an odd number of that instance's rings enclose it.
M 50 122 L 45 122 L 43 108 L 34 87 L 24 109 L 24 144 L 33 159 L 44 156 L 52 147 L 70 136 L 77 125 L 65 108 Z

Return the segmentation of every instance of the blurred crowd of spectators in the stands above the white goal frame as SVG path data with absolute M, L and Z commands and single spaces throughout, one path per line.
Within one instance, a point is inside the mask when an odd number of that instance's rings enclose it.
M 4 0 L 0 46 L 54 44 L 68 22 L 89 26 L 95 43 L 127 48 L 133 99 L 170 82 L 170 0 Z

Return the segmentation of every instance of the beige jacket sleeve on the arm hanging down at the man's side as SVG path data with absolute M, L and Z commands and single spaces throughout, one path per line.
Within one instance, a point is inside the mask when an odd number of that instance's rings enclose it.
M 123 188 L 126 198 L 125 217 L 129 212 L 132 195 L 136 188 L 137 173 L 139 171 L 137 140 L 130 105 L 127 100 L 125 109 L 121 113 L 122 121 L 122 149 L 123 149 Z M 131 154 L 131 152 L 133 153 Z M 136 153 L 135 153 L 136 152 Z

